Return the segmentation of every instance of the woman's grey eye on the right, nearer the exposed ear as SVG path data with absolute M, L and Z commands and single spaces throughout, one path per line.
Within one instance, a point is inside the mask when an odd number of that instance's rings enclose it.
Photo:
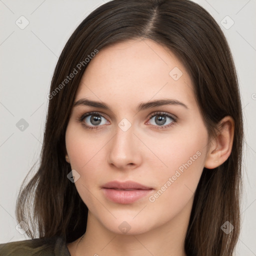
M 149 118 L 149 121 L 152 120 L 151 124 L 157 129 L 169 127 L 176 122 L 176 117 L 164 112 L 152 113 Z

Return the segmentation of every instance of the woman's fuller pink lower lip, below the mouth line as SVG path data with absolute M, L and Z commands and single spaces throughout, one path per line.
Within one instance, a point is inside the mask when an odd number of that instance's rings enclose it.
M 105 196 L 117 203 L 127 204 L 146 196 L 152 189 L 117 190 L 114 188 L 102 188 Z

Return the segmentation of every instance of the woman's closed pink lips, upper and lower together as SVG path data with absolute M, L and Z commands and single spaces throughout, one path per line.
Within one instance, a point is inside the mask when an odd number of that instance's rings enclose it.
M 102 186 L 103 194 L 107 199 L 121 204 L 135 202 L 152 190 L 153 188 L 134 181 L 110 181 Z

